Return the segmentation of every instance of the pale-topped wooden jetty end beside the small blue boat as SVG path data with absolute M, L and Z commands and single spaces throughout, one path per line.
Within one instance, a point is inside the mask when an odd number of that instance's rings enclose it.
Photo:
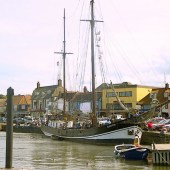
M 152 163 L 170 165 L 170 144 L 152 144 Z

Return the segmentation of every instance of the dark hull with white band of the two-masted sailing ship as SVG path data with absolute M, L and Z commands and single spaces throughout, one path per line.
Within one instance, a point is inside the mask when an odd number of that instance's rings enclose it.
M 42 125 L 42 132 L 55 140 L 67 140 L 90 144 L 133 143 L 136 135 L 141 138 L 142 130 L 134 124 L 110 124 L 89 129 L 60 129 Z

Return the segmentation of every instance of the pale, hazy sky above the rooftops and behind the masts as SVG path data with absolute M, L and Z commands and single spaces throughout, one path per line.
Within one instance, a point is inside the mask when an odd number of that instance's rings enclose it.
M 77 90 L 73 74 L 80 73 L 76 62 L 85 53 L 85 48 L 80 52 L 80 35 L 85 37 L 89 26 L 80 20 L 90 19 L 89 3 L 90 0 L 0 1 L 0 94 L 6 95 L 9 87 L 15 95 L 32 94 L 38 81 L 41 86 L 50 86 L 62 79 L 62 56 L 54 52 L 63 49 L 64 8 L 66 52 L 73 53 L 66 56 L 66 88 Z M 95 37 L 99 33 L 96 39 L 100 43 L 95 54 L 100 71 L 105 70 L 103 77 L 109 73 L 107 83 L 111 80 L 157 87 L 170 83 L 169 7 L 169 0 L 95 1 L 95 19 L 104 21 L 95 24 Z M 90 64 L 87 66 L 86 78 L 90 77 Z

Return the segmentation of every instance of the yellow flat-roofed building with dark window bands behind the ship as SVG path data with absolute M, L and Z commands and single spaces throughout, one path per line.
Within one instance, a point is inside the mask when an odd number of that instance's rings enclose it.
M 103 83 L 96 89 L 96 91 L 102 91 L 102 109 L 100 110 L 100 113 L 107 115 L 107 113 L 129 112 L 122 108 L 118 99 L 131 112 L 138 110 L 140 109 L 138 102 L 147 96 L 154 88 L 156 87 L 136 85 L 129 82 L 120 84 Z

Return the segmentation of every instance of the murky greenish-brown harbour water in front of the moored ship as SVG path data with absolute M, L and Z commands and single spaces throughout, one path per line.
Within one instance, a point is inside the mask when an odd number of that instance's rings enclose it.
M 0 132 L 0 168 L 5 167 L 6 133 Z M 113 146 L 55 141 L 40 134 L 13 134 L 13 167 L 29 170 L 168 170 L 147 161 L 113 156 Z

